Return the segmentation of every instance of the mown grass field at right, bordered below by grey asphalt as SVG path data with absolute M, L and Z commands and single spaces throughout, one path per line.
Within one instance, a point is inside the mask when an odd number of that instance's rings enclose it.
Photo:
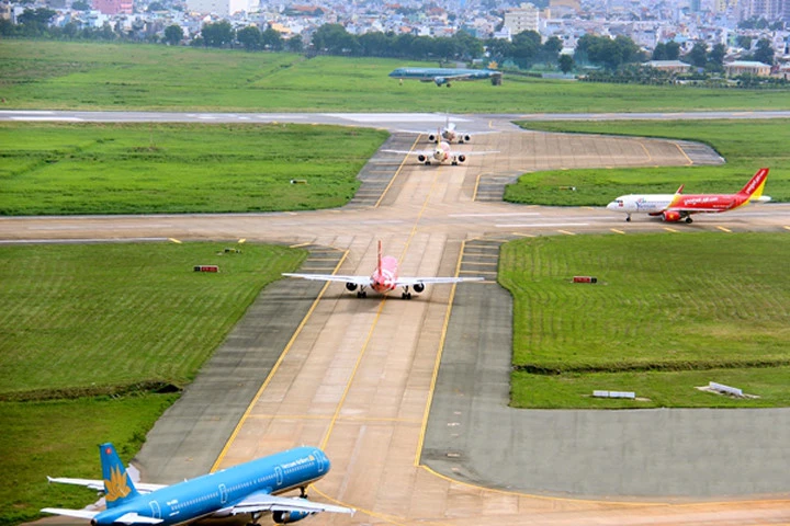
M 512 403 L 790 405 L 790 236 L 544 237 L 503 247 L 514 295 Z M 598 284 L 573 284 L 574 275 Z M 699 392 L 734 382 L 759 399 Z M 601 401 L 594 389 L 650 401 Z

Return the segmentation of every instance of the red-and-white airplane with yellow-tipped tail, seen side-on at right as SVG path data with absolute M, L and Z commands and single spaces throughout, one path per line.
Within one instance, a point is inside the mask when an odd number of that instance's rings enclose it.
M 684 185 L 674 194 L 621 195 L 607 205 L 608 210 L 624 211 L 625 221 L 631 214 L 661 216 L 665 221 L 692 222 L 691 214 L 727 211 L 749 203 L 767 203 L 763 195 L 768 169 L 760 168 L 737 194 L 682 194 Z

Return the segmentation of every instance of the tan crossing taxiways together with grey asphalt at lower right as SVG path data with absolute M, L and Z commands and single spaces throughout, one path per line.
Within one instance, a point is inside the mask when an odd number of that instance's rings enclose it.
M 440 118 L 443 122 L 443 115 Z M 496 126 L 485 117 L 476 122 Z M 342 274 L 369 274 L 375 243 L 383 239 L 385 251 L 399 256 L 402 275 L 461 272 L 490 277 L 485 254 L 494 249 L 484 244 L 510 236 L 790 230 L 788 205 L 667 226 L 643 218 L 625 224 L 602 209 L 523 207 L 476 198 L 485 172 L 693 163 L 677 141 L 504 132 L 475 136 L 463 148 L 500 153 L 462 167 L 424 167 L 402 159 L 371 207 L 268 215 L 0 218 L 0 239 L 246 237 L 313 243 L 349 251 L 339 268 Z M 392 170 L 391 157 L 377 159 Z M 472 250 L 478 238 L 483 244 Z M 319 516 L 312 519 L 315 524 L 790 522 L 790 470 L 781 469 L 790 455 L 785 411 L 509 410 L 504 380 L 509 317 L 501 294 L 497 285 L 483 283 L 433 287 L 411 301 L 357 300 L 341 285 L 329 286 L 271 373 L 263 377 L 260 370 L 258 379 L 266 388 L 255 395 L 226 447 L 216 451 L 215 466 L 300 444 L 320 445 L 332 459 L 332 470 L 316 484 L 315 496 L 360 512 L 349 519 Z M 214 410 L 204 415 L 211 418 Z M 464 432 L 448 436 L 441 434 L 443 428 Z M 664 428 L 678 434 L 662 435 Z M 174 430 L 178 433 L 178 426 Z M 758 443 L 752 444 L 754 439 Z M 439 472 L 444 470 L 451 478 Z M 733 473 L 746 480 L 735 491 L 726 483 Z M 725 482 L 713 480 L 716 477 Z M 765 480 L 757 483 L 760 478 Z M 771 498 L 731 499 L 746 493 Z M 600 494 L 607 498 L 578 499 Z M 628 495 L 622 499 L 628 502 L 612 502 L 611 495 Z M 634 502 L 642 495 L 650 498 Z M 672 505 L 677 495 L 716 495 L 723 502 L 698 496 L 693 503 Z

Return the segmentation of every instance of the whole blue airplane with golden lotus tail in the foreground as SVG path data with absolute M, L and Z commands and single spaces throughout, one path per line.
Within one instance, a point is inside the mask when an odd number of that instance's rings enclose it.
M 103 480 L 49 478 L 49 482 L 84 485 L 104 492 L 106 510 L 42 512 L 89 519 L 91 526 L 168 526 L 199 518 L 250 514 L 251 525 L 264 513 L 278 524 L 295 523 L 319 512 L 353 514 L 349 507 L 304 498 L 305 488 L 329 471 L 329 459 L 313 447 L 297 447 L 173 485 L 135 484 L 111 443 L 99 446 Z M 302 498 L 275 496 L 300 489 Z

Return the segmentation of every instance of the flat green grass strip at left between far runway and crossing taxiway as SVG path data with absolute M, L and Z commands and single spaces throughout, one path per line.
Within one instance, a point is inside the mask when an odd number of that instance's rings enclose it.
M 0 123 L 0 214 L 342 206 L 386 137 L 339 126 Z

